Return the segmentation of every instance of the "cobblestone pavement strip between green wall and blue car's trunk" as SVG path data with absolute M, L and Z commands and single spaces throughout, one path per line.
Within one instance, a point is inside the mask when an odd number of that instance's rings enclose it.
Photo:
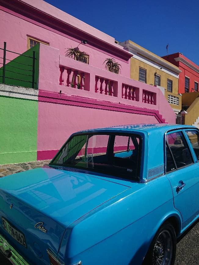
M 49 162 L 50 160 L 41 160 L 19 164 L 0 165 L 0 177 L 8 176 L 13 173 L 19 173 L 33 168 L 41 168 L 48 165 Z

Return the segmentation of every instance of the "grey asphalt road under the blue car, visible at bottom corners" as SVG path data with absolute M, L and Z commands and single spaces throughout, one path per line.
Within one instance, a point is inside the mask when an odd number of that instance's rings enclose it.
M 0 264 L 11 265 L 1 253 Z M 177 244 L 175 265 L 199 265 L 199 223 Z

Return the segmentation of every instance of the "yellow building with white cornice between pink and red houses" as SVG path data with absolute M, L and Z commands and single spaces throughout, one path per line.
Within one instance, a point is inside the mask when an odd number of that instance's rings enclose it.
M 119 43 L 132 53 L 130 77 L 149 85 L 156 85 L 176 114 L 182 108 L 182 95 L 178 94 L 179 68 L 133 41 Z

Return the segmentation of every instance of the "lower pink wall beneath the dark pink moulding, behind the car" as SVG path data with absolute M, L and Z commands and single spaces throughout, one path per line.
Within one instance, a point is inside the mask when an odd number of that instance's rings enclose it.
M 52 158 L 76 131 L 136 123 L 158 122 L 154 116 L 38 102 L 38 159 Z

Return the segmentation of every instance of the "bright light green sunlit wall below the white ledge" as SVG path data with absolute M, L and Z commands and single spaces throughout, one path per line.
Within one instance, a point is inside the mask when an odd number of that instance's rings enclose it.
M 0 164 L 37 160 L 38 101 L 0 96 Z

